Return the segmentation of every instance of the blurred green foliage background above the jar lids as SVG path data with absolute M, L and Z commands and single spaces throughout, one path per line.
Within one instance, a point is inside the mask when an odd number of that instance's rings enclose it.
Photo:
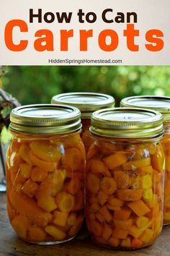
M 170 96 L 170 66 L 9 67 L 3 88 L 22 104 L 50 103 L 58 93 L 89 91 L 113 95 L 118 106 L 130 95 Z

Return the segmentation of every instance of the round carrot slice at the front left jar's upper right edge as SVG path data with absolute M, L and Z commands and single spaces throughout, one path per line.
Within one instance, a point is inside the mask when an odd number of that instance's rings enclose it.
M 61 158 L 63 168 L 71 171 L 79 170 L 83 157 L 77 148 L 67 148 L 65 154 Z

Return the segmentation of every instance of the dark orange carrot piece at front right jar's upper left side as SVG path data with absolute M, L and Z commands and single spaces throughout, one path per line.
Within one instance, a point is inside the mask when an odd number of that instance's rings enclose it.
M 102 161 L 99 161 L 97 159 L 91 159 L 90 161 L 91 165 L 91 172 L 94 174 L 104 174 L 107 177 L 111 177 L 111 174 L 109 173 L 109 170 L 105 163 Z

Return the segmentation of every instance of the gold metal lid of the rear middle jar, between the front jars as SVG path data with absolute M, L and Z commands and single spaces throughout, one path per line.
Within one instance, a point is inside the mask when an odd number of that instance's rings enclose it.
M 103 93 L 62 93 L 53 96 L 51 103 L 79 108 L 81 118 L 88 119 L 94 111 L 115 106 L 115 99 Z

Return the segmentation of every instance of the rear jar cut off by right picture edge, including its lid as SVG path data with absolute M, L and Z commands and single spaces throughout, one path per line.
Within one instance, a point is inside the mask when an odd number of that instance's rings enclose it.
M 120 105 L 130 108 L 147 108 L 159 111 L 164 121 L 164 137 L 161 144 L 166 158 L 164 225 L 170 224 L 170 97 L 135 96 L 122 99 Z

